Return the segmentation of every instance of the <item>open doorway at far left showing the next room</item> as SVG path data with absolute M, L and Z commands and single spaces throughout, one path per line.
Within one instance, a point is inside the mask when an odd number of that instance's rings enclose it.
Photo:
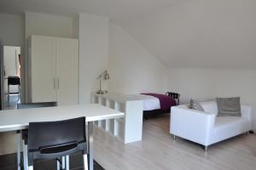
M 20 47 L 3 46 L 4 109 L 16 109 L 20 103 Z

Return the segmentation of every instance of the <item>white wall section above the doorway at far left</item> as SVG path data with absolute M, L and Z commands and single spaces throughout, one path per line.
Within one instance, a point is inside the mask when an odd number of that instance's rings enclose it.
M 0 14 L 0 23 L 0 42 L 21 47 L 24 31 L 22 15 Z

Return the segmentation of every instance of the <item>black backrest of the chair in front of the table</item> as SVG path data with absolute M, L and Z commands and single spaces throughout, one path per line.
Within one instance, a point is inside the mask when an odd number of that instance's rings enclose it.
M 29 152 L 53 154 L 86 143 L 85 117 L 58 122 L 30 122 L 27 147 Z

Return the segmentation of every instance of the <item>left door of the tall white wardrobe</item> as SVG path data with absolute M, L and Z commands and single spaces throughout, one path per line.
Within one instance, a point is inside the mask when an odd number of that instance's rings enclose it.
M 51 37 L 31 38 L 32 102 L 55 101 L 55 40 Z

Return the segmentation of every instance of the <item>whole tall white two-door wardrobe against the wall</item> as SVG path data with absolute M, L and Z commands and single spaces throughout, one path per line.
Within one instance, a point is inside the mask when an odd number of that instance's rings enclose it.
M 32 36 L 28 56 L 30 102 L 78 104 L 78 39 Z

